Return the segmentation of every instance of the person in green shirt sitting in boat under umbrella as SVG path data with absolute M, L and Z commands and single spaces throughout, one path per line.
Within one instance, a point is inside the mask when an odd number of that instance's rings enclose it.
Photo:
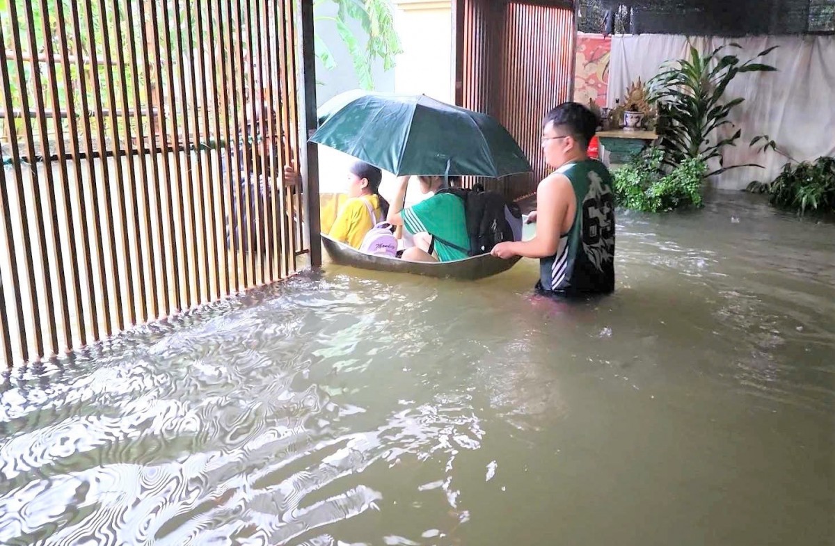
M 438 194 L 443 185 L 440 176 L 418 176 L 424 194 L 435 195 L 405 209 L 403 198 L 409 182 L 408 176 L 397 179 L 397 195 L 388 210 L 388 223 L 402 225 L 415 235 L 415 246 L 407 248 L 403 260 L 453 261 L 469 255 L 467 216 L 463 200 L 453 194 Z M 425 235 L 424 235 L 425 234 Z

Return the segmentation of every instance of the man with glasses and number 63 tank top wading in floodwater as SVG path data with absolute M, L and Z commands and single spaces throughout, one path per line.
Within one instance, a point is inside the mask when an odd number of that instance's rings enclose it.
M 615 199 L 612 175 L 589 159 L 595 114 L 578 103 L 564 103 L 545 117 L 542 149 L 556 169 L 539 182 L 531 240 L 499 243 L 491 252 L 539 258 L 536 290 L 546 295 L 606 294 L 615 290 Z

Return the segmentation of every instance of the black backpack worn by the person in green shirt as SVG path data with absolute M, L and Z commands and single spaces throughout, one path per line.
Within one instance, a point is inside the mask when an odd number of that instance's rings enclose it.
M 438 194 L 442 193 L 456 195 L 464 202 L 470 240 L 468 255 L 486 254 L 498 243 L 514 240 L 514 232 L 504 215 L 504 207 L 508 207 L 512 215 L 522 218 L 522 211 L 516 203 L 507 202 L 498 192 L 484 191 L 481 185 L 476 185 L 473 190 L 449 188 L 438 191 Z

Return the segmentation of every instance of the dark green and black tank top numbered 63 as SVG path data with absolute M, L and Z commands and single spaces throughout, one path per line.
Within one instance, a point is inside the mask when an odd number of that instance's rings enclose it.
M 557 253 L 539 260 L 545 292 L 566 295 L 615 290 L 615 195 L 612 175 L 595 159 L 565 164 L 557 172 L 574 187 L 577 212 Z

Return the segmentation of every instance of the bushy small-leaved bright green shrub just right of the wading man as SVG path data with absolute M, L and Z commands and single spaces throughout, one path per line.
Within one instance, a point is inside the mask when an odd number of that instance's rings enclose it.
M 646 149 L 615 170 L 616 202 L 644 212 L 701 207 L 705 170 L 699 158 L 685 159 L 674 169 L 665 168 L 665 151 L 659 147 Z

